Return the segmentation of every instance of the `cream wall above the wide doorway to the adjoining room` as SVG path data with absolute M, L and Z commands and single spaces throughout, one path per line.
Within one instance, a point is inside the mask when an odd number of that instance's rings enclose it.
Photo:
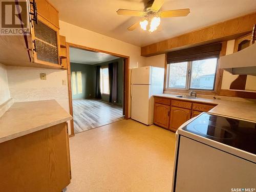
M 59 20 L 60 35 L 66 36 L 66 41 L 72 44 L 86 46 L 89 48 L 109 51 L 130 57 L 130 69 L 145 65 L 145 57 L 140 56 L 140 47 L 126 42 L 80 28 L 78 26 Z M 131 73 L 131 70 L 130 70 Z M 131 77 L 131 76 L 130 76 Z M 131 79 L 130 79 L 131 82 Z M 131 83 L 129 83 L 131 84 Z M 129 88 L 129 94 L 131 86 Z M 131 98 L 129 99 L 131 103 Z M 129 108 L 131 115 L 131 104 Z

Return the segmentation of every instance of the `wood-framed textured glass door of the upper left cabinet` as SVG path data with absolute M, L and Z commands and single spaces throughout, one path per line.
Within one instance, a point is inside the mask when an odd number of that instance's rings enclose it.
M 34 62 L 59 65 L 59 29 L 38 15 L 38 24 L 33 25 Z

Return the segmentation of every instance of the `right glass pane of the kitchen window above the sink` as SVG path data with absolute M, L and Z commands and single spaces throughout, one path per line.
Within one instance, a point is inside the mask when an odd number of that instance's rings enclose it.
M 191 89 L 214 89 L 217 60 L 217 58 L 210 58 L 191 63 Z

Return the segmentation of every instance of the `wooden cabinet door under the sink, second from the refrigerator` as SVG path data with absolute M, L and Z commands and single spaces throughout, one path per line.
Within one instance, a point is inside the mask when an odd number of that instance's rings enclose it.
M 170 130 L 176 132 L 180 125 L 190 119 L 190 114 L 191 110 L 172 106 L 170 110 Z

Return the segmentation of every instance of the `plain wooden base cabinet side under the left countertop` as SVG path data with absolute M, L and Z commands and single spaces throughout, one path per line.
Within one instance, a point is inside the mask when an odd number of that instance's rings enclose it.
M 0 191 L 49 191 L 71 179 L 66 122 L 0 143 Z

